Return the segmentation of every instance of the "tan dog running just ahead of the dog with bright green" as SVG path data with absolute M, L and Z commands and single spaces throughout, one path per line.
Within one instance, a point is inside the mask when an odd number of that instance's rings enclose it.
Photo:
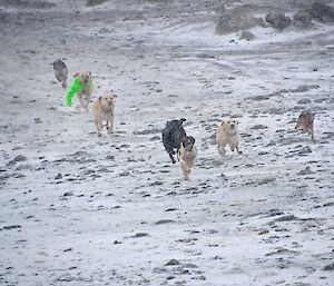
M 94 122 L 99 137 L 101 136 L 104 121 L 107 121 L 106 127 L 108 134 L 114 132 L 115 98 L 117 98 L 116 95 L 112 92 L 107 92 L 97 99 L 92 105 Z

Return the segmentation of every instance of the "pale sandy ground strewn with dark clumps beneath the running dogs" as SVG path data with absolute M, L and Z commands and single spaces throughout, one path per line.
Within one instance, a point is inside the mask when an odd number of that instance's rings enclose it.
M 0 2 L 0 285 L 333 285 L 333 24 L 246 41 L 215 1 L 22 2 Z M 118 95 L 114 135 L 65 105 L 57 58 Z M 180 117 L 189 181 L 160 142 Z

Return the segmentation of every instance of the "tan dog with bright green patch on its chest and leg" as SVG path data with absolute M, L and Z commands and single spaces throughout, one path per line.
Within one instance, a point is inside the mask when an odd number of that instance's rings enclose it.
M 77 93 L 81 107 L 85 108 L 86 111 L 88 111 L 92 89 L 94 87 L 90 71 L 81 71 L 75 73 L 75 81 L 66 97 L 67 105 L 72 105 L 72 97 Z

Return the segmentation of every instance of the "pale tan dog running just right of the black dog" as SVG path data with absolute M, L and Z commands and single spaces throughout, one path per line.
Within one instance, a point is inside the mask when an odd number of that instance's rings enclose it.
M 238 121 L 228 119 L 226 121 L 223 121 L 217 130 L 216 135 L 216 141 L 217 141 L 217 148 L 220 156 L 224 156 L 226 154 L 225 146 L 228 144 L 230 146 L 230 150 L 236 150 L 238 154 L 243 154 L 239 150 L 239 132 L 238 132 Z

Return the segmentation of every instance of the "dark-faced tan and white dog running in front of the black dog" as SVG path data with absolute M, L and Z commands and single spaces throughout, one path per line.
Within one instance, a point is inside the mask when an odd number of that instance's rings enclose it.
M 178 149 L 177 157 L 180 162 L 180 167 L 184 172 L 185 179 L 189 179 L 190 169 L 194 167 L 197 149 L 195 147 L 195 138 L 193 136 L 186 136 Z

